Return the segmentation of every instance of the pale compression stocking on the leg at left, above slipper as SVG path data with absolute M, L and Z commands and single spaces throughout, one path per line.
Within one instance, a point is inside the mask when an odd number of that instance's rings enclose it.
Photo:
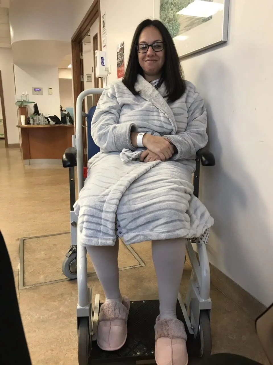
M 122 296 L 119 290 L 118 239 L 114 246 L 88 246 L 86 249 L 90 255 L 100 284 L 102 284 L 106 302 L 120 301 L 121 303 Z

